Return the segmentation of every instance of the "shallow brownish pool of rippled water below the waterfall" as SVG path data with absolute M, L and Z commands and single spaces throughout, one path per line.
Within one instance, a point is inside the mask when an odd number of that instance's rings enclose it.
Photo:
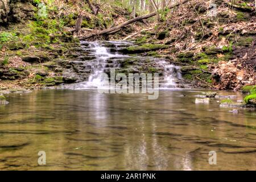
M 196 105 L 197 94 L 11 94 L 0 106 L 0 169 L 255 170 L 255 111 L 230 113 L 216 100 Z M 46 166 L 38 166 L 39 151 Z M 209 165 L 209 151 L 217 165 Z

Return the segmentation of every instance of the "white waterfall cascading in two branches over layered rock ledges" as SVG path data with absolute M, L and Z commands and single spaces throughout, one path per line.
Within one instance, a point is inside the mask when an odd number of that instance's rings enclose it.
M 127 56 L 118 53 L 119 49 L 133 45 L 131 42 L 81 42 L 81 44 L 84 45 L 82 46 L 84 51 L 88 52 L 89 56 L 94 57 L 92 60 L 93 64 L 90 65 L 92 73 L 90 74 L 88 81 L 76 84 L 74 89 L 92 89 L 101 87 L 104 84 L 101 73 L 108 73 L 110 68 L 119 68 L 120 60 L 125 61 L 131 57 L 141 60 L 142 64 L 150 59 L 155 62 L 156 67 L 163 70 L 162 81 L 160 81 L 159 85 L 160 89 L 177 88 L 177 82 L 182 78 L 180 67 L 170 64 L 166 60 L 154 59 L 146 56 Z

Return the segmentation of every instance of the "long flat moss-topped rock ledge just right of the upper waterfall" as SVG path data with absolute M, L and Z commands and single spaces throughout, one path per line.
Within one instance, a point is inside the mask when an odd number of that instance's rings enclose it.
M 143 46 L 138 47 L 127 47 L 124 49 L 121 49 L 120 52 L 123 53 L 143 53 L 143 52 L 149 52 L 149 51 L 156 51 L 158 49 L 168 48 L 169 46 L 163 45 L 163 44 L 144 44 Z

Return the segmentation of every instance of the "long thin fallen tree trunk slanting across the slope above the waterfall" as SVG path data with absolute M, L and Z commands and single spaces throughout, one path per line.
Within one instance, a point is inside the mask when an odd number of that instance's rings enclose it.
M 187 2 L 187 1 L 188 1 L 188 0 L 181 0 L 181 1 L 178 1 L 178 2 L 174 3 L 173 5 L 170 5 L 168 8 L 169 8 L 169 9 L 172 9 L 172 8 L 174 8 L 175 6 L 179 6 L 179 5 L 181 5 L 182 3 Z M 82 37 L 79 38 L 79 39 L 80 39 L 80 40 L 83 40 L 83 39 L 91 38 L 91 37 L 93 37 L 93 36 L 98 36 L 98 35 L 102 35 L 102 34 L 107 34 L 108 32 L 114 32 L 114 31 L 116 31 L 116 30 L 121 29 L 122 27 L 127 26 L 127 25 L 130 24 L 130 23 L 137 22 L 137 21 L 143 20 L 143 19 L 147 19 L 147 18 L 150 18 L 150 17 L 155 16 L 155 15 L 156 15 L 156 13 L 154 12 L 154 13 L 150 13 L 150 14 L 147 14 L 147 15 L 138 16 L 137 18 L 130 19 L 130 20 L 128 20 L 127 22 L 124 22 L 124 23 L 122 23 L 122 24 L 119 24 L 118 26 L 109 28 L 109 29 L 107 29 L 107 30 L 102 30 L 102 31 L 100 31 L 100 32 L 96 32 L 96 33 L 93 33 L 93 34 L 89 34 L 89 35 L 87 35 L 87 36 L 82 36 Z

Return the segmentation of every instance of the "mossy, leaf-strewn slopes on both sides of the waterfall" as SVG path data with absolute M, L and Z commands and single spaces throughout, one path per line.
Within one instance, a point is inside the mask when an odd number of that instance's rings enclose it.
M 126 53 L 164 57 L 181 65 L 183 78 L 195 86 L 239 90 L 256 84 L 254 1 L 191 0 L 95 39 L 134 40 L 141 45 Z M 34 5 L 37 7 L 38 5 Z M 74 59 L 79 37 L 117 26 L 130 19 L 130 12 L 102 5 L 98 15 L 88 6 L 55 1 L 47 18 L 22 20 L 0 27 L 1 89 L 35 89 L 82 81 L 63 60 Z M 73 35 L 78 17 L 84 16 L 82 32 Z M 138 34 L 135 34 L 138 33 Z M 160 46 L 159 44 L 164 45 Z M 141 51 L 143 49 L 143 52 Z

